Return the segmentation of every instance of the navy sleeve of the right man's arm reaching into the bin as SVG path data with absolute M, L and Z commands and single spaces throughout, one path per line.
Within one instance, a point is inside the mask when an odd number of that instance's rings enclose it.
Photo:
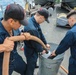
M 63 40 L 60 42 L 59 46 L 57 47 L 55 54 L 61 54 L 65 52 L 71 45 L 73 44 L 74 35 L 73 32 L 68 31 Z

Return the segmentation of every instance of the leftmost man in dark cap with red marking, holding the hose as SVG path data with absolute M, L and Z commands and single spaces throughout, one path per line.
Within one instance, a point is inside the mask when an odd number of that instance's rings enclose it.
M 4 17 L 0 21 L 0 44 L 4 42 L 6 37 L 14 36 L 13 30 L 17 30 L 20 26 L 26 25 L 24 9 L 19 4 L 10 4 L 6 7 Z M 26 39 L 29 39 L 29 34 L 26 33 Z M 26 63 L 17 53 L 17 42 L 14 43 L 14 49 L 11 51 L 9 75 L 13 71 L 25 75 Z M 0 53 L 0 75 L 2 75 L 3 52 Z

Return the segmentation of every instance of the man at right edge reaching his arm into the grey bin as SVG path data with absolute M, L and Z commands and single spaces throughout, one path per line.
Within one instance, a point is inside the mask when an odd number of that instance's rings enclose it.
M 61 54 L 70 48 L 71 56 L 69 59 L 68 75 L 76 75 L 76 10 L 69 12 L 67 19 L 71 29 L 66 33 L 58 48 L 52 52 L 51 56 Z

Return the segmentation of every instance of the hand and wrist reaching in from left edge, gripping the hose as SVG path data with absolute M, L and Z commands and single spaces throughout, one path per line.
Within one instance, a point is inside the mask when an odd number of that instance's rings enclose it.
M 13 48 L 14 48 L 14 42 L 6 38 L 3 44 L 0 44 L 0 53 L 4 51 L 12 51 Z

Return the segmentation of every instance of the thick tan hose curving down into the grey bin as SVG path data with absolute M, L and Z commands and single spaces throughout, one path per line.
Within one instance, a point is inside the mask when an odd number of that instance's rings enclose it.
M 25 35 L 12 36 L 12 37 L 9 37 L 9 40 L 22 41 L 22 40 L 26 40 L 26 37 L 25 37 Z M 46 50 L 46 52 L 48 52 L 47 49 L 46 49 L 45 44 L 39 38 L 31 35 L 30 40 L 34 40 L 34 41 L 40 43 L 43 46 L 43 48 Z M 4 52 L 2 75 L 9 75 L 9 59 L 10 59 L 10 52 Z

